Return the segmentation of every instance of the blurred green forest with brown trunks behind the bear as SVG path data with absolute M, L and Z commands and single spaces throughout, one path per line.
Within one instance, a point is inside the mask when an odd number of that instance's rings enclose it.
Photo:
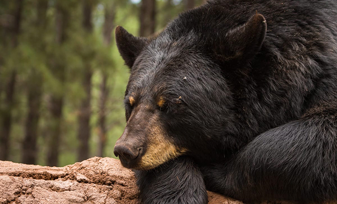
M 0 160 L 114 157 L 129 70 L 114 28 L 160 32 L 204 0 L 0 0 Z

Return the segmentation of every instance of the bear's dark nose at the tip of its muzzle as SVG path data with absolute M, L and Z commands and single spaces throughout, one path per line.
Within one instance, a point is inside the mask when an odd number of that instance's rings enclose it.
M 123 144 L 117 144 L 113 150 L 113 154 L 119 157 L 121 161 L 125 160 L 129 164 L 138 157 L 141 150 L 142 147 L 130 148 Z

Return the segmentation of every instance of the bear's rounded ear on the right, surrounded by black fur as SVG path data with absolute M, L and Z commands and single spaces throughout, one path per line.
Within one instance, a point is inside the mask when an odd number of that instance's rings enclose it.
M 225 43 L 215 45 L 216 53 L 225 62 L 250 61 L 259 52 L 266 32 L 266 19 L 256 13 L 244 25 L 228 31 Z

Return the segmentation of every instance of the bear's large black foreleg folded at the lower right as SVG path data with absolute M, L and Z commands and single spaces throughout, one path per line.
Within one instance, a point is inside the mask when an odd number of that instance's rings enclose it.
M 208 190 L 244 201 L 336 200 L 337 108 L 311 109 L 260 134 L 229 162 L 201 170 Z

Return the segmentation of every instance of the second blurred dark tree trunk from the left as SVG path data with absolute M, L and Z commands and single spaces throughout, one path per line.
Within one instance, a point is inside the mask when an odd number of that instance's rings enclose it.
M 37 19 L 36 29 L 41 36 L 44 35 L 46 11 L 48 7 L 47 0 L 38 0 L 37 2 Z M 39 41 L 37 36 L 33 37 L 36 41 L 35 48 L 37 52 L 44 53 L 45 43 Z M 37 137 L 38 137 L 38 121 L 40 117 L 40 104 L 42 95 L 42 77 L 41 73 L 36 70 L 32 70 L 30 74 L 30 80 L 28 81 L 28 115 L 26 118 L 26 134 L 25 140 L 22 143 L 22 163 L 35 164 L 37 160 Z

